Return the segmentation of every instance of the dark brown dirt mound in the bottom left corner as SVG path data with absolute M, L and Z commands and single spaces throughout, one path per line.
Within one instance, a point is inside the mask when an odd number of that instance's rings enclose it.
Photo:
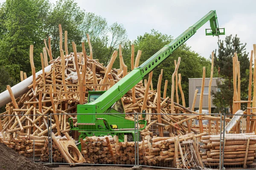
M 52 170 L 34 163 L 14 150 L 0 143 L 0 170 Z

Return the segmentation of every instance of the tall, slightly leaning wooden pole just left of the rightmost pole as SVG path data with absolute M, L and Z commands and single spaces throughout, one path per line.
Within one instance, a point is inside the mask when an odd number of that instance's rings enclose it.
M 247 115 L 250 115 L 250 108 L 251 104 L 250 101 L 252 99 L 252 76 L 253 76 L 253 50 L 251 51 L 251 56 L 250 56 L 250 73 L 249 73 L 249 86 L 248 86 L 248 103 L 247 103 Z M 250 133 L 250 116 L 246 116 L 246 133 Z

